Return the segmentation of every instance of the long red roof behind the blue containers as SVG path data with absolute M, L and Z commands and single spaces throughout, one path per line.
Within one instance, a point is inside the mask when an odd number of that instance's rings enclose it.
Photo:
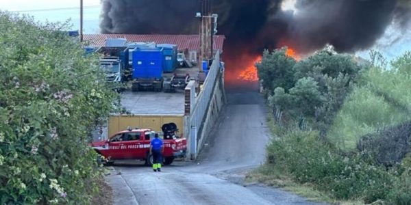
M 104 46 L 108 38 L 125 38 L 128 42 L 155 42 L 156 44 L 176 44 L 180 51 L 198 51 L 199 35 L 138 35 L 138 34 L 84 34 L 84 41 L 91 46 Z M 214 36 L 214 50 L 223 51 L 225 36 Z

